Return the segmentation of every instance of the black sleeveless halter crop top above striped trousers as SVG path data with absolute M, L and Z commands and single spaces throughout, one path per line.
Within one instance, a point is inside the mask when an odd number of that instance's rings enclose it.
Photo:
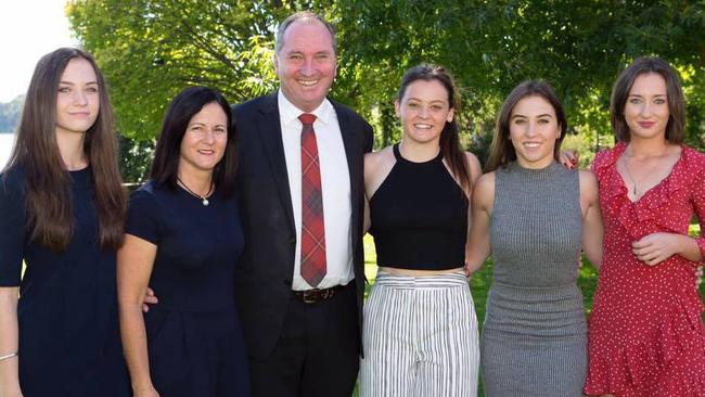
M 413 270 L 460 268 L 465 258 L 467 197 L 436 158 L 413 163 L 401 157 L 370 198 L 370 233 L 377 265 Z

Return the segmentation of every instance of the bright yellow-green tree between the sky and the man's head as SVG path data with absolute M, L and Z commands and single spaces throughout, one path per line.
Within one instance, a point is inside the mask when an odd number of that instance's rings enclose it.
M 231 101 L 271 90 L 269 31 L 282 13 L 256 1 L 67 5 L 76 35 L 110 82 L 120 131 L 140 140 L 156 135 L 166 105 L 188 86 L 217 88 Z

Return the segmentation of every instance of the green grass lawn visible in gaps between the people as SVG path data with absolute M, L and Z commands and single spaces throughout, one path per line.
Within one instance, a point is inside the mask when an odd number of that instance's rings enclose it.
M 697 225 L 691 225 L 690 233 L 692 235 L 697 235 L 700 228 Z M 580 276 L 578 278 L 578 285 L 582 291 L 585 311 L 587 315 L 590 313 L 592 308 L 592 295 L 594 293 L 595 285 L 598 284 L 598 274 L 592 266 L 589 265 L 589 261 L 582 257 L 582 267 L 580 268 Z M 374 283 L 374 278 L 377 273 L 376 267 L 376 254 L 374 252 L 374 242 L 370 234 L 364 236 L 364 273 L 370 281 L 370 284 L 366 287 L 364 296 L 370 291 L 371 284 Z M 472 291 L 473 300 L 475 302 L 475 311 L 477 312 L 477 321 L 482 325 L 485 320 L 485 305 L 487 303 L 487 293 L 489 292 L 489 286 L 492 283 L 492 261 L 491 258 L 485 262 L 485 266 L 473 274 L 470 279 L 470 290 Z M 705 283 L 700 287 L 701 298 L 705 302 Z M 703 317 L 705 321 L 705 315 Z M 358 390 L 355 389 L 352 396 L 358 397 Z M 485 393 L 483 392 L 483 385 L 479 385 L 478 397 L 484 397 Z

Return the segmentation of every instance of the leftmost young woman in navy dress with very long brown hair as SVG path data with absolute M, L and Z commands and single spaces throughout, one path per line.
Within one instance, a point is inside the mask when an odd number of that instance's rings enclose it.
M 115 291 L 125 195 L 113 125 L 88 53 L 63 48 L 39 61 L 0 175 L 2 396 L 129 395 Z

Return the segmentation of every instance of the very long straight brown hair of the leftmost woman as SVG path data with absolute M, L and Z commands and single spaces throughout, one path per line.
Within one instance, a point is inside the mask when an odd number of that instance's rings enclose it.
M 70 176 L 56 144 L 59 81 L 70 60 L 88 61 L 95 71 L 100 111 L 86 131 L 84 153 L 92 171 L 93 204 L 101 247 L 116 249 L 123 242 L 125 193 L 117 166 L 117 138 L 107 89 L 93 57 L 85 51 L 61 48 L 42 56 L 35 68 L 17 137 L 8 167 L 26 175 L 26 208 L 30 240 L 52 251 L 68 246 L 74 229 Z

